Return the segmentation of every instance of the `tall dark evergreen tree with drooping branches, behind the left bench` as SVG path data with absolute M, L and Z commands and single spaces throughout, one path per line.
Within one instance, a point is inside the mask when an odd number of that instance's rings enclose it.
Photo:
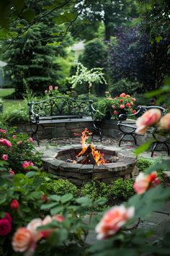
M 27 0 L 27 4 L 31 1 Z M 33 3 L 35 17 L 42 15 L 42 4 Z M 21 26 L 26 26 L 25 20 L 20 20 Z M 14 31 L 20 27 L 14 27 Z M 57 56 L 64 56 L 66 40 L 58 45 L 53 43 L 53 34 L 59 33 L 60 27 L 55 27 L 52 17 L 48 15 L 44 20 L 32 25 L 26 33 L 14 40 L 4 54 L 8 63 L 6 72 L 11 76 L 12 85 L 16 89 L 16 96 L 24 93 L 23 78 L 35 93 L 42 93 L 50 84 L 55 84 L 58 79 L 60 67 L 55 64 Z M 10 42 L 9 42 L 10 43 Z

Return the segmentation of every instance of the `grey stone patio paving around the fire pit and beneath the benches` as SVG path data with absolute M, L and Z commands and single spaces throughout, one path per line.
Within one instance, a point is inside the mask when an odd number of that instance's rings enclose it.
M 118 140 L 115 140 L 111 137 L 104 137 L 103 142 L 99 142 L 99 139 L 97 137 L 93 140 L 94 145 L 107 145 L 114 147 L 115 150 L 122 150 L 128 152 L 130 155 L 133 154 L 135 148 L 138 148 L 138 146 L 134 146 L 132 142 L 122 142 L 122 146 L 118 147 Z M 42 152 L 51 147 L 56 146 L 65 146 L 65 145 L 71 145 L 71 144 L 80 144 L 80 137 L 71 137 L 71 138 L 56 138 L 53 140 L 40 140 L 40 147 L 36 147 L 37 150 L 41 150 Z M 140 156 L 151 158 L 151 151 L 141 153 Z M 167 153 L 164 151 L 160 151 L 154 153 L 153 159 L 156 158 L 169 158 L 167 156 Z M 166 174 L 169 176 L 169 185 L 170 186 L 170 171 L 167 171 Z M 161 210 L 154 212 L 150 218 L 146 220 L 142 220 L 140 222 L 139 227 L 143 227 L 143 229 L 151 228 L 155 231 L 154 236 L 151 237 L 151 241 L 155 239 L 160 239 L 161 235 L 163 234 L 163 231 L 166 229 L 167 222 L 170 221 L 170 200 L 166 202 L 164 205 L 164 208 Z M 89 233 L 89 236 L 87 236 L 86 242 L 93 243 L 96 241 L 96 234 L 94 231 L 91 231 Z

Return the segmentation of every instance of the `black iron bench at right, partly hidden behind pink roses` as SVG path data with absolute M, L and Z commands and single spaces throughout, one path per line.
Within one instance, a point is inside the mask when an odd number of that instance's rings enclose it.
M 162 108 L 161 106 L 138 106 L 138 109 L 135 114 L 120 114 L 119 121 L 117 123 L 117 126 L 119 127 L 120 132 L 122 133 L 122 136 L 120 137 L 120 141 L 119 141 L 119 147 L 122 141 L 130 141 L 130 140 L 125 140 L 124 139 L 125 136 L 132 137 L 133 139 L 132 141 L 135 142 L 135 145 L 137 145 L 136 134 L 135 134 L 135 130 L 137 129 L 137 127 L 135 125 L 135 120 L 139 116 L 141 116 L 145 111 L 151 108 L 158 108 L 161 110 L 162 115 L 166 114 L 166 109 Z M 133 118 L 133 119 L 127 120 L 128 118 Z M 161 135 L 160 132 L 158 132 L 157 127 L 151 127 L 150 129 L 148 129 L 147 132 L 150 133 L 154 139 L 153 147 L 151 149 L 151 157 L 153 157 L 153 153 L 156 150 L 157 146 L 161 144 L 165 145 L 167 153 L 169 155 L 170 153 L 169 145 L 168 145 L 169 140 L 167 140 L 164 135 Z

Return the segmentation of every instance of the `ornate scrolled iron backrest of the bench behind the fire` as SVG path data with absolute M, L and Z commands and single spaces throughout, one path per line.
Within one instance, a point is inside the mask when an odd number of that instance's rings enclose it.
M 91 116 L 93 101 L 78 101 L 72 98 L 55 96 L 44 101 L 28 103 L 30 116 Z

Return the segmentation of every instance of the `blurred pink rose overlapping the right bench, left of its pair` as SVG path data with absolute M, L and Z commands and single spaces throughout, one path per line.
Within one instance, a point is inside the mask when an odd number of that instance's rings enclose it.
M 146 111 L 142 116 L 140 116 L 136 120 L 136 133 L 138 135 L 143 135 L 148 127 L 151 127 L 153 124 L 158 123 L 158 121 L 161 119 L 161 111 L 157 108 L 151 108 L 148 111 Z

